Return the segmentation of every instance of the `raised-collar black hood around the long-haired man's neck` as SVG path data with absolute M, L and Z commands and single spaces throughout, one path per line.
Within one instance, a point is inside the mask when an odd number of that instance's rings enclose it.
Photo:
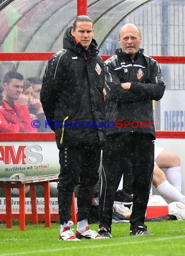
M 80 43 L 76 43 L 75 42 L 75 37 L 73 35 L 71 35 L 71 29 L 72 29 L 72 26 L 68 27 L 66 29 L 66 32 L 64 33 L 64 37 L 63 37 L 63 48 L 65 49 L 70 49 L 70 50 L 73 50 L 75 52 L 79 52 L 79 53 L 82 53 L 84 52 L 84 48 L 81 46 Z M 91 51 L 91 52 L 94 52 L 96 53 L 95 55 L 97 55 L 99 53 L 99 51 L 97 50 L 97 42 L 96 40 L 92 40 L 91 44 L 89 45 L 88 49 L 87 49 L 87 52 L 88 51 Z

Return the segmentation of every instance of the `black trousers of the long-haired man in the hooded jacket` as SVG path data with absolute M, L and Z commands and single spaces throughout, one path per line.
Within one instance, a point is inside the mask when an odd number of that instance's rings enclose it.
M 101 146 L 92 143 L 68 146 L 59 151 L 61 169 L 57 188 L 61 224 L 71 218 L 72 194 L 76 185 L 79 185 L 78 221 L 88 218 L 94 187 L 99 179 L 100 157 Z

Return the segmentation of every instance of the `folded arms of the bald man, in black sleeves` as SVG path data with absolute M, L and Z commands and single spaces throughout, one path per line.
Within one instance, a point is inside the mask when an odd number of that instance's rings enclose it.
M 160 100 L 163 97 L 165 83 L 157 62 L 151 66 L 151 83 L 121 83 L 114 67 L 105 65 L 106 92 L 113 102 L 127 103 L 143 100 Z

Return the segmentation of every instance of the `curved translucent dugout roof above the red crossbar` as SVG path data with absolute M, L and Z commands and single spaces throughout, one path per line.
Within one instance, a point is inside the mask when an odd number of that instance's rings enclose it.
M 128 13 L 148 0 L 88 0 L 99 47 Z M 0 52 L 57 52 L 77 0 L 6 0 L 0 5 Z

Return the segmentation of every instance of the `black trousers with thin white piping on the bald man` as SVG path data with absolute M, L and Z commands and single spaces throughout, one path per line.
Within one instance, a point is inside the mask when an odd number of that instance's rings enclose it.
M 115 192 L 124 173 L 132 165 L 133 206 L 131 227 L 144 224 L 154 170 L 154 137 L 151 134 L 125 132 L 109 135 L 103 148 L 99 195 L 100 226 L 111 232 Z

